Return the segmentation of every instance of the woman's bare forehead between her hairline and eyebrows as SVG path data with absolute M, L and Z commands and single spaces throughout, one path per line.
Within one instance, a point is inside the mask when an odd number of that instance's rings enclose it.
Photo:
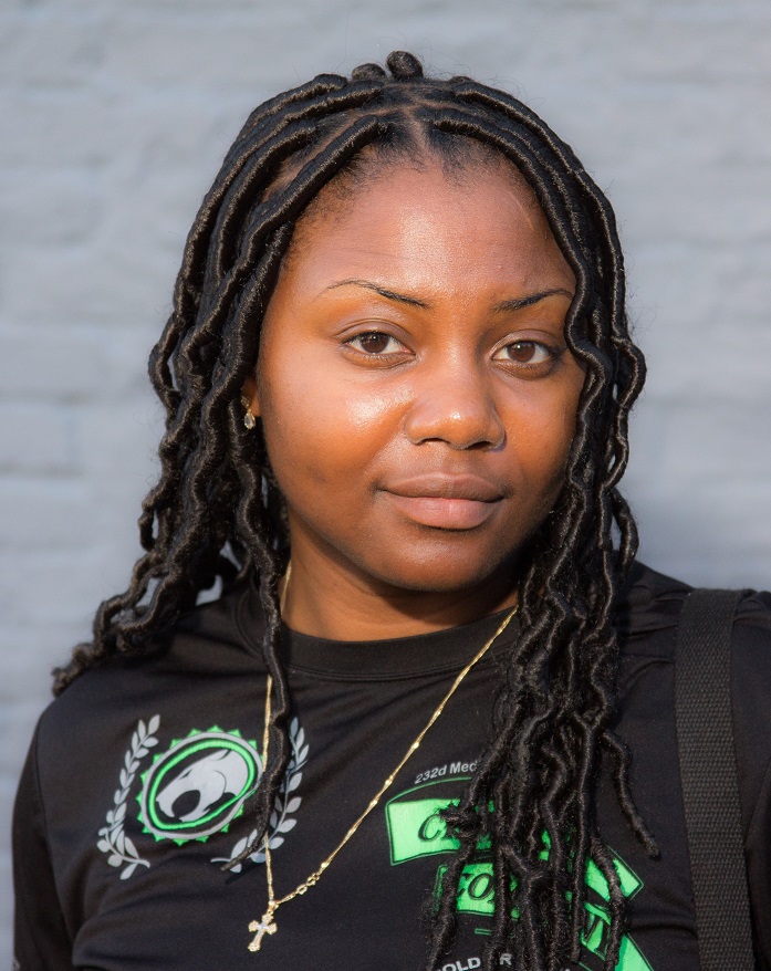
M 375 274 L 444 294 L 574 282 L 532 189 L 504 159 L 392 164 L 331 184 L 299 220 L 285 273 L 302 289 Z

